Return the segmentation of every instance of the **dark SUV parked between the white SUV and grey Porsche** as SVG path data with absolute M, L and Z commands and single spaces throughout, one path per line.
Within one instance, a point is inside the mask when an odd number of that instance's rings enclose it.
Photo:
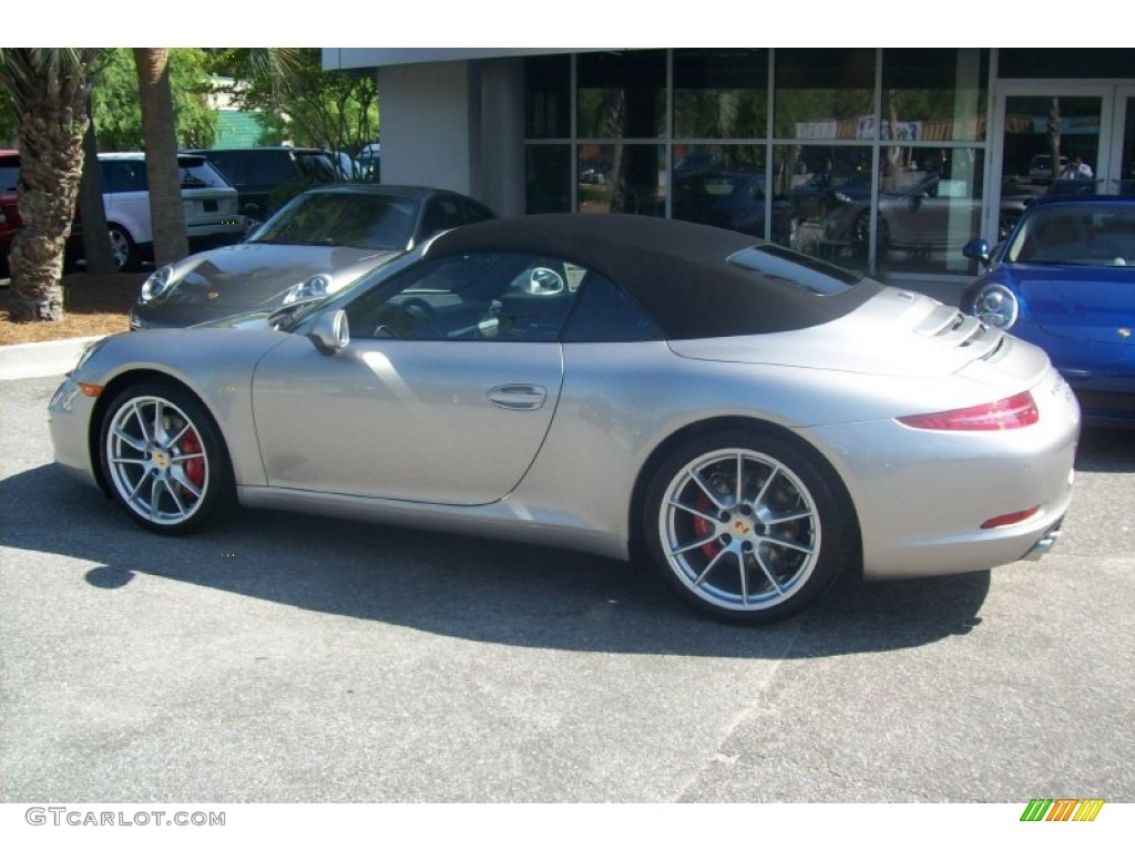
M 327 151 L 318 148 L 216 148 L 186 151 L 205 157 L 239 193 L 239 211 L 263 221 L 312 186 L 342 183 Z

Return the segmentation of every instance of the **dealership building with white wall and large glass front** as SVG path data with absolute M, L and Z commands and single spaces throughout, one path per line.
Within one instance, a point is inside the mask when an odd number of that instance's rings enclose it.
M 961 281 L 1036 197 L 1135 194 L 1135 49 L 325 48 L 373 68 L 382 179 L 502 216 L 750 233 Z

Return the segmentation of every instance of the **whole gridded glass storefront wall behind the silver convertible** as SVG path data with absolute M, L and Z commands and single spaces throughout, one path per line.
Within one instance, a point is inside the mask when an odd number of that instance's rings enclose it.
M 876 275 L 966 275 L 961 246 L 983 227 L 991 56 L 725 48 L 530 58 L 527 210 L 672 216 Z M 1076 109 L 1069 102 L 1066 126 L 1078 134 Z M 1006 152 L 1020 159 L 1011 142 Z M 999 222 L 1028 197 L 1002 187 Z

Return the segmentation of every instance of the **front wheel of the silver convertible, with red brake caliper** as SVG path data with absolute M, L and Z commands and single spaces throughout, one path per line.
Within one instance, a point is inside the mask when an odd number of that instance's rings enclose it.
M 233 502 L 228 453 L 190 393 L 166 384 L 125 388 L 107 408 L 100 464 L 126 513 L 163 534 L 188 532 Z

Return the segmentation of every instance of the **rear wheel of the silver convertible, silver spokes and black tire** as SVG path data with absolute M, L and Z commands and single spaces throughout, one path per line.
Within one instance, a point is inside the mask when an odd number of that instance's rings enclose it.
M 647 555 L 679 597 L 718 620 L 796 614 L 855 556 L 854 513 L 830 475 L 773 436 L 723 431 L 691 440 L 651 478 Z

